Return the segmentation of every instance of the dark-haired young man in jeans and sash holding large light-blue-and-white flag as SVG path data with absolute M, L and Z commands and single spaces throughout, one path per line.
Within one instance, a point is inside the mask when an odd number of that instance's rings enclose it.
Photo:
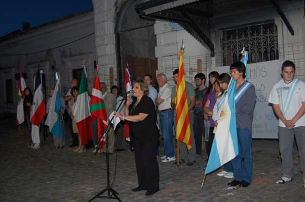
M 230 66 L 230 73 L 236 81 L 236 127 L 239 154 L 231 161 L 235 179 L 229 186 L 247 187 L 252 182 L 252 121 L 256 102 L 255 87 L 245 80 L 246 67 L 237 62 Z M 243 160 L 244 159 L 244 160 Z

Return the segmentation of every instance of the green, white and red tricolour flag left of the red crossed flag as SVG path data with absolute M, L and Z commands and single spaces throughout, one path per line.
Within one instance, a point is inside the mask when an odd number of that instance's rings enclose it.
M 81 79 L 81 85 L 79 89 L 79 94 L 77 102 L 74 104 L 75 109 L 73 116 L 75 122 L 77 122 L 79 133 L 81 136 L 82 144 L 88 143 L 89 139 L 92 139 L 92 126 L 91 126 L 91 114 L 89 105 L 89 95 L 87 90 L 86 76 L 87 69 L 86 65 L 83 65 L 83 74 Z

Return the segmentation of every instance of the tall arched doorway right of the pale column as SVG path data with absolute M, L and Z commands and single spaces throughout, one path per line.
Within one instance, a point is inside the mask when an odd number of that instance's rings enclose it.
M 117 14 L 118 84 L 122 87 L 127 63 L 132 79 L 145 74 L 151 74 L 155 78 L 158 69 L 155 57 L 155 21 L 142 20 L 139 17 L 135 10 L 138 2 L 139 0 L 128 1 Z

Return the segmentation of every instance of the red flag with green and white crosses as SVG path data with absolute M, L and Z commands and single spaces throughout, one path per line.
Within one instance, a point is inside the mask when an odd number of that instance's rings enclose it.
M 105 110 L 104 99 L 98 79 L 98 66 L 95 68 L 95 78 L 92 88 L 90 112 L 97 120 L 97 140 L 101 138 L 104 130 L 107 128 L 107 114 Z M 99 148 L 106 144 L 106 137 L 103 137 L 99 143 Z

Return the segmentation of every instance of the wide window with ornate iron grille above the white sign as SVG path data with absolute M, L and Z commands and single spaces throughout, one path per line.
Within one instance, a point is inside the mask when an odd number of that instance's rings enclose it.
M 220 42 L 224 66 L 240 60 L 243 47 L 248 51 L 248 63 L 279 59 L 278 31 L 274 22 L 223 30 Z

